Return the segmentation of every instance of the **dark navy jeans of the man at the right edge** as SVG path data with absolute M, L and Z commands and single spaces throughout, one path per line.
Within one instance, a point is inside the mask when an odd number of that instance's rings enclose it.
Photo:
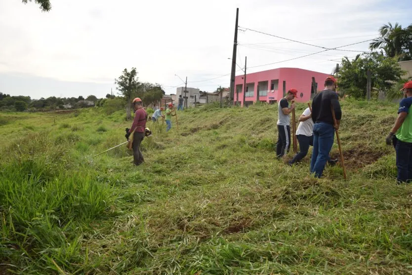
M 398 182 L 412 181 L 412 143 L 397 140 L 396 167 L 398 168 Z

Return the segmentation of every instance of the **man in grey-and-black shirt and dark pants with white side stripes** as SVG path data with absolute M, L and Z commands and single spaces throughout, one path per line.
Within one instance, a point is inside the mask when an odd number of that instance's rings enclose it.
M 278 142 L 276 144 L 276 157 L 278 159 L 284 157 L 289 152 L 290 148 L 290 117 L 289 114 L 295 109 L 295 104 L 292 103 L 289 108 L 288 101 L 291 101 L 297 95 L 296 89 L 288 90 L 288 94 L 278 103 Z

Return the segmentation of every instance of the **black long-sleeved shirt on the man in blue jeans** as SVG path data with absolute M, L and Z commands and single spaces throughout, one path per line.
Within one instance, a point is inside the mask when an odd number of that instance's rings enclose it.
M 335 112 L 336 120 L 340 120 L 342 118 L 342 111 L 340 110 L 339 97 L 336 92 L 323 90 L 318 93 L 312 101 L 313 122 L 325 122 L 333 125 L 331 106 Z

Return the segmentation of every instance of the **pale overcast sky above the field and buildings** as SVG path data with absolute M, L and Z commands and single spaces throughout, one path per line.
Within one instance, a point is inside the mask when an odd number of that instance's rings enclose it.
M 104 97 L 124 68 L 140 81 L 175 93 L 188 86 L 212 91 L 229 86 L 236 8 L 239 26 L 324 47 L 378 35 L 390 22 L 412 23 L 411 0 L 0 0 L 0 91 L 32 98 Z M 240 67 L 279 62 L 322 50 L 247 30 L 238 35 Z M 368 50 L 368 42 L 344 49 Z M 326 51 L 256 67 L 257 72 L 295 67 L 330 73 L 342 56 Z M 237 75 L 242 74 L 237 67 Z M 220 77 L 220 78 L 218 78 Z M 212 79 L 212 80 L 208 80 Z

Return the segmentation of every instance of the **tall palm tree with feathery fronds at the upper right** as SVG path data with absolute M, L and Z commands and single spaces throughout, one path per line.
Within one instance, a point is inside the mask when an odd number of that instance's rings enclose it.
M 412 59 L 412 24 L 403 29 L 402 25 L 390 22 L 379 28 L 379 38 L 369 44 L 371 50 L 382 49 L 389 57 L 396 57 L 398 61 Z

